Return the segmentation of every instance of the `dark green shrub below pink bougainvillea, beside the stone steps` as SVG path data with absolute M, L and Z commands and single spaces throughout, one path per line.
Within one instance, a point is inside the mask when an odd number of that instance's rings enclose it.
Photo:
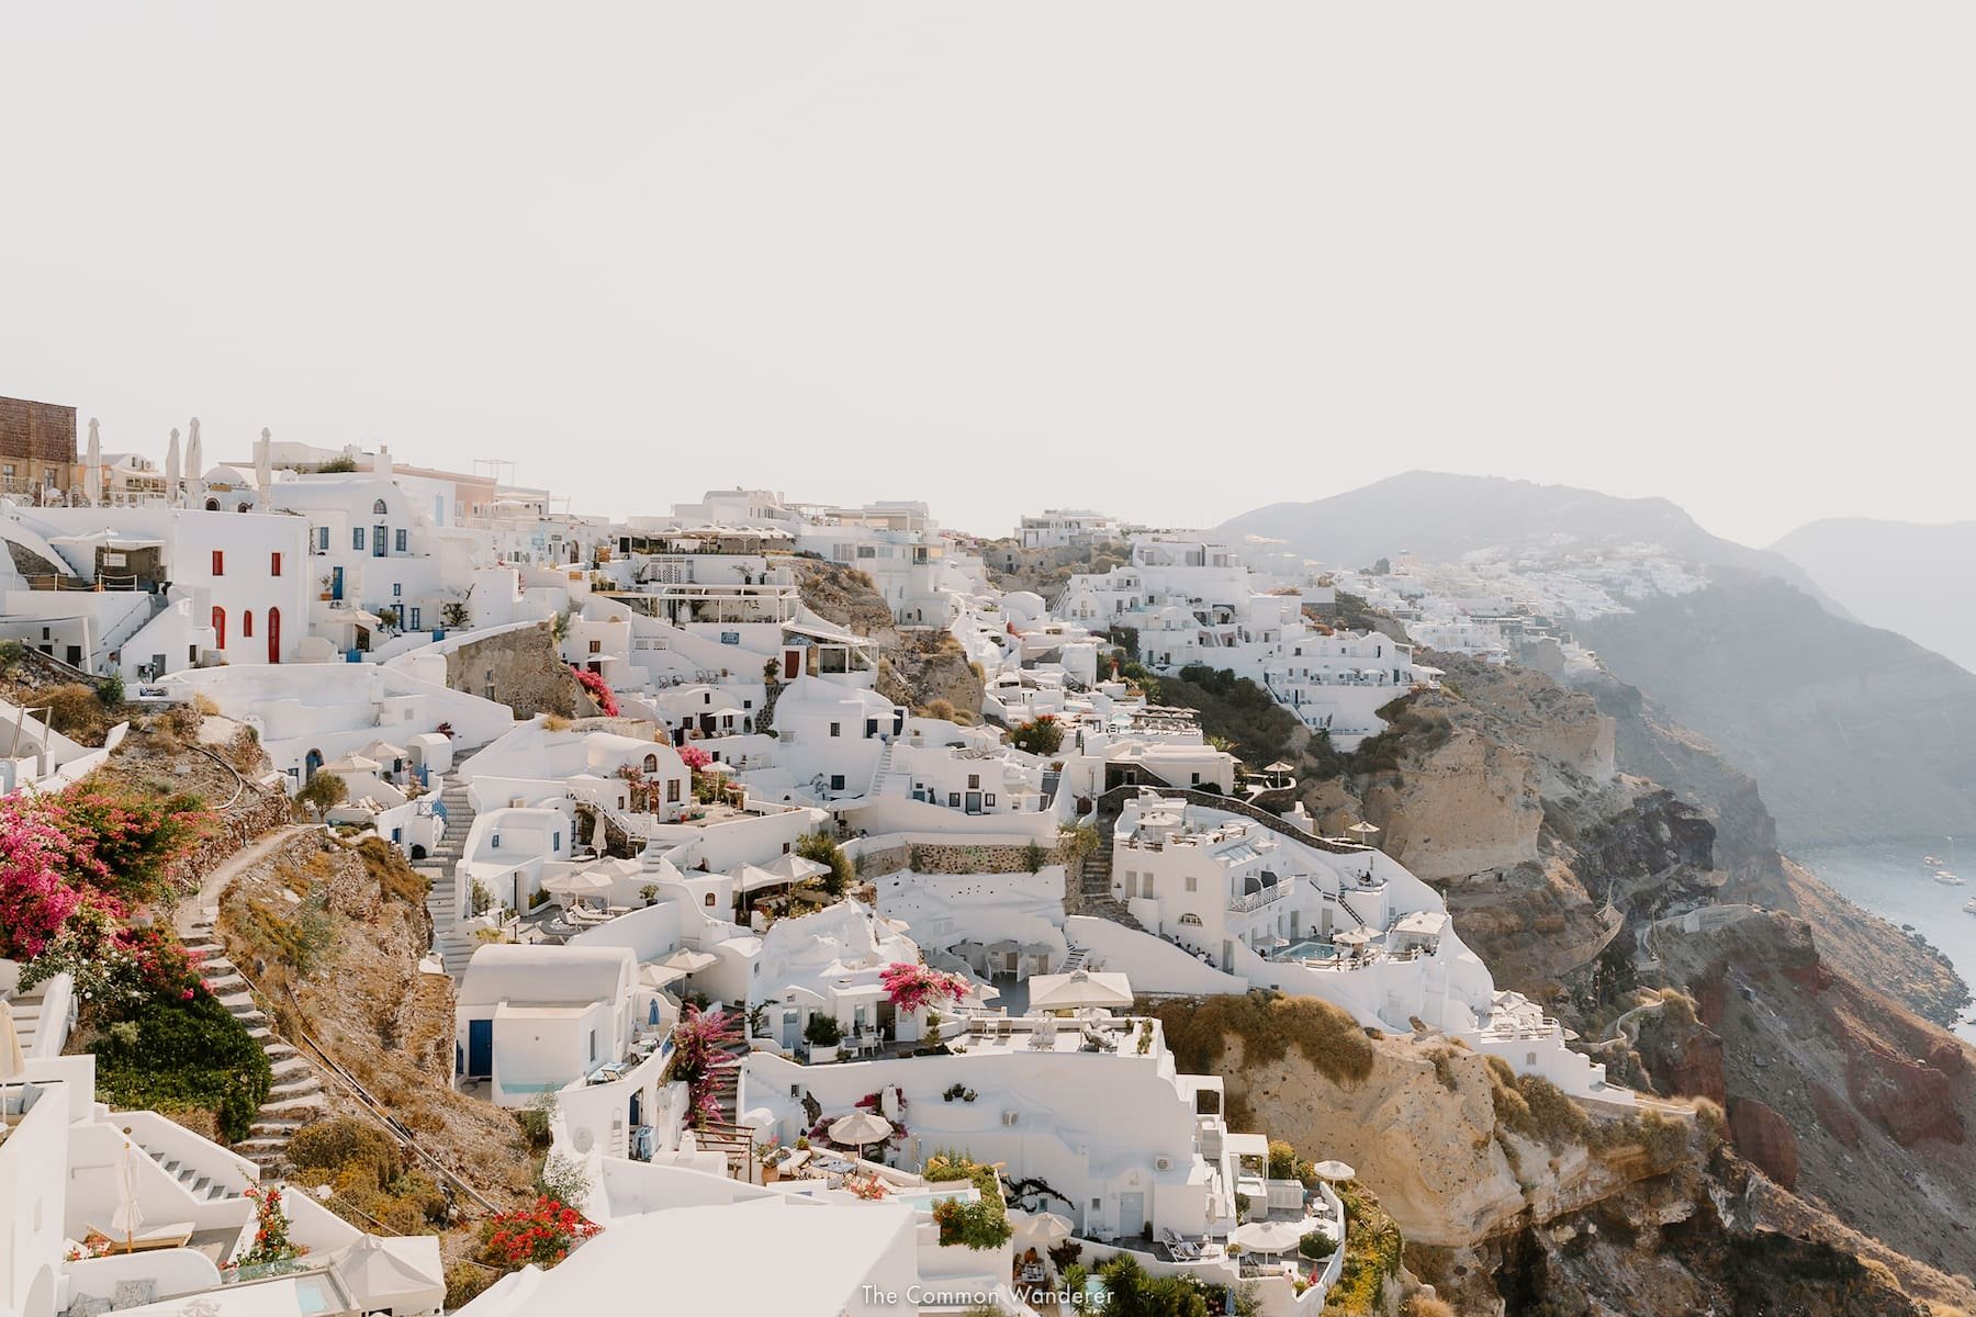
M 119 1011 L 91 1050 L 105 1102 L 158 1112 L 213 1112 L 227 1141 L 247 1137 L 273 1086 L 261 1045 L 209 993 L 192 1001 L 146 997 Z

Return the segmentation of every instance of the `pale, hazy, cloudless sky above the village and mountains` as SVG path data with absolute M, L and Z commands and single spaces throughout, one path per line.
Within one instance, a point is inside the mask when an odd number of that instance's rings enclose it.
M 1211 523 L 1407 468 L 1976 517 L 1956 4 L 0 8 L 0 393 Z

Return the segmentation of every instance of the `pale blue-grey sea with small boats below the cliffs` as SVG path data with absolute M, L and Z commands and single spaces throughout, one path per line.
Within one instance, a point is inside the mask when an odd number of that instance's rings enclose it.
M 1790 857 L 1853 904 L 1919 932 L 1948 958 L 1964 983 L 1976 987 L 1976 914 L 1962 910 L 1962 902 L 1976 896 L 1976 839 L 1956 841 L 1956 863 L 1948 861 L 1948 851 L 1946 837 L 1923 837 L 1802 849 Z M 1942 863 L 1923 863 L 1929 855 Z M 1960 873 L 1964 885 L 1936 883 L 1936 869 Z M 1964 1009 L 1964 1023 L 1956 1033 L 1976 1043 L 1976 1027 L 1966 1023 L 1970 1011 Z

